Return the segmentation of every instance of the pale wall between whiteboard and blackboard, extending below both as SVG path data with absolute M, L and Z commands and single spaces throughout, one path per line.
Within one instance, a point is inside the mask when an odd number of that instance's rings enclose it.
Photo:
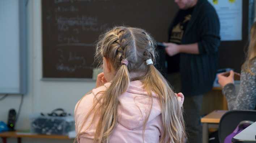
M 16 124 L 17 130 L 30 128 L 29 115 L 35 112 L 51 112 L 55 108 L 63 108 L 73 113 L 76 102 L 90 89 L 95 82 L 81 81 L 42 81 L 42 28 L 41 1 L 29 0 L 27 5 L 28 32 L 28 93 L 24 95 L 24 103 Z M 18 111 L 20 95 L 9 95 L 0 101 L 0 121 L 7 121 L 11 108 Z M 22 139 L 23 143 L 56 142 L 54 139 Z M 8 139 L 8 143 L 16 143 L 16 139 Z M 72 142 L 62 140 L 61 142 Z M 0 141 L 1 143 L 1 141 Z

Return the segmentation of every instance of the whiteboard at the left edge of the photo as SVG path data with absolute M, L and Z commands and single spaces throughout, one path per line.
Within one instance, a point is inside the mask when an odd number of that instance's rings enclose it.
M 25 4 L 0 0 L 0 94 L 26 92 Z

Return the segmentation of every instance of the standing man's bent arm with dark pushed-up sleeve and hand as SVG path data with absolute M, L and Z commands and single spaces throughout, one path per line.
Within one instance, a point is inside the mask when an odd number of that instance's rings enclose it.
M 212 54 L 218 51 L 220 43 L 219 19 L 216 13 L 206 12 L 201 16 L 200 41 L 191 44 L 177 45 L 175 43 L 163 43 L 169 56 L 179 53 L 187 54 Z

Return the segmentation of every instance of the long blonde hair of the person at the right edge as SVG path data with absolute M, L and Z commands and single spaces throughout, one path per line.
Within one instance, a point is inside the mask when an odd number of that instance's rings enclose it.
M 252 66 L 252 60 L 256 57 L 256 22 L 253 23 L 250 31 L 250 42 L 246 54 L 246 61 L 242 65 L 242 69 L 246 72 L 255 75 L 255 73 L 252 73 L 251 66 Z

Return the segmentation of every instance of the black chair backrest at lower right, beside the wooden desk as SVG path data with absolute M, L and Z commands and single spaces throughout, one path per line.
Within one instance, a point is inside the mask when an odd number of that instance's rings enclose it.
M 226 112 L 219 122 L 219 142 L 223 143 L 227 135 L 231 134 L 243 120 L 256 121 L 256 111 L 232 110 Z

